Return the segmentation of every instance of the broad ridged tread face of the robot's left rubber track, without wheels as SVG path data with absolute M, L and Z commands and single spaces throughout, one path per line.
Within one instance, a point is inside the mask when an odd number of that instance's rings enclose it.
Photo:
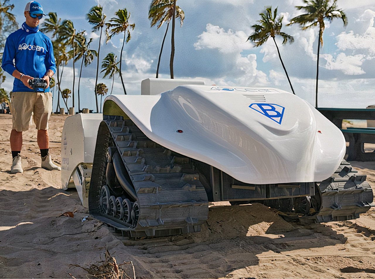
M 171 150 L 148 139 L 131 120 L 107 118 L 104 121 L 130 175 L 140 207 L 135 228 L 121 221 L 111 225 L 128 231 L 131 237 L 200 231 L 200 225 L 207 220 L 208 200 L 198 174 L 183 172 L 186 166 L 191 168 L 189 158 L 180 154 L 173 157 Z

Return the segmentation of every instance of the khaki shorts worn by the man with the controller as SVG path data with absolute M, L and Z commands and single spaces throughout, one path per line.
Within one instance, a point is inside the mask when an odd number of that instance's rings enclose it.
M 48 129 L 48 119 L 52 113 L 51 92 L 13 92 L 11 103 L 13 130 L 27 131 L 31 113 L 34 113 L 36 129 Z

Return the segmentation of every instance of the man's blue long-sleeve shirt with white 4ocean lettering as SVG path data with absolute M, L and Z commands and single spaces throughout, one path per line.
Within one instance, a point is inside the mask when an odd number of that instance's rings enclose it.
M 17 69 L 22 74 L 34 78 L 42 78 L 48 70 L 56 72 L 51 40 L 40 32 L 38 27 L 32 28 L 23 23 L 21 29 L 13 32 L 6 39 L 1 68 L 10 75 Z M 43 89 L 38 91 L 42 92 Z M 33 92 L 33 90 L 15 78 L 13 92 Z M 45 92 L 49 92 L 49 87 Z

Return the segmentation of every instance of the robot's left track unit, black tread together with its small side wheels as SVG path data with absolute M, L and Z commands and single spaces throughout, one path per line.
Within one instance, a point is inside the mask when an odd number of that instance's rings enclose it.
M 102 159 L 96 164 L 96 170 L 93 169 L 93 173 L 98 172 L 98 184 L 93 185 L 95 180 L 92 179 L 90 185 L 90 191 L 92 187 L 96 188 L 94 199 L 99 199 L 101 204 L 96 202 L 96 208 L 90 208 L 90 213 L 129 237 L 200 231 L 201 224 L 208 216 L 207 194 L 188 157 L 156 144 L 133 121 L 123 120 L 119 116 L 105 116 L 102 121 L 95 157 L 105 158 L 105 148 L 111 145 L 120 154 L 126 176 L 135 190 L 136 201 L 118 184 L 117 187 L 109 185 L 107 180 L 110 178 L 106 178 L 104 169 L 107 163 Z M 98 191 L 98 187 L 107 187 L 108 191 Z

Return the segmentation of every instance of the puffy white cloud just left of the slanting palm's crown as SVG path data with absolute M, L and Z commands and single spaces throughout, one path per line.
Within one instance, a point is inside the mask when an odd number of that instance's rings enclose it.
M 195 49 L 218 49 L 223 54 L 239 53 L 245 49 L 251 49 L 252 44 L 247 42 L 249 35 L 244 31 L 229 29 L 226 32 L 219 26 L 210 23 L 206 25 L 206 31 L 198 36 L 198 41 L 194 43 Z

